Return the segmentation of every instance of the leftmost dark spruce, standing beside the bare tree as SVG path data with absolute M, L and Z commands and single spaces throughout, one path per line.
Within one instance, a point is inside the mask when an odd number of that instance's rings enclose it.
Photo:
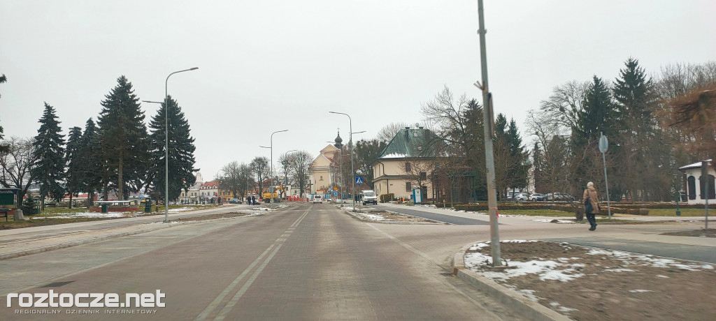
M 32 143 L 33 157 L 37 159 L 32 171 L 43 201 L 46 197 L 59 201 L 64 197 L 64 135 L 60 134 L 62 129 L 59 127 L 54 107 L 47 102 L 44 107 L 42 118 L 39 119 L 40 128 L 37 129 L 37 136 Z

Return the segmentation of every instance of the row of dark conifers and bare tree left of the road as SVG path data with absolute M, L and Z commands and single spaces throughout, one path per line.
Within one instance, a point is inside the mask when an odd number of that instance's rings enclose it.
M 105 200 L 110 193 L 127 199 L 130 193 L 145 189 L 153 199 L 164 199 L 168 120 L 169 199 L 177 199 L 181 189 L 195 184 L 193 173 L 198 169 L 194 168 L 194 139 L 181 107 L 171 97 L 168 108 L 165 104 L 147 129 L 140 99 L 127 78 L 120 76 L 117 86 L 100 102 L 97 122 L 90 118 L 84 129 L 70 128 L 65 139 L 55 108 L 46 102 L 36 137 L 11 137 L 4 142 L 0 182 L 20 189 L 18 199 L 33 183 L 39 186 L 42 199 L 59 201 L 66 194 L 72 198 L 88 193 L 88 206 L 96 193 Z

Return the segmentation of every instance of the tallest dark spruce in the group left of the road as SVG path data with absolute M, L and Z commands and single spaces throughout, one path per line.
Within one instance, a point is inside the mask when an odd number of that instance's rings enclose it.
M 150 140 L 144 112 L 125 76 L 117 79 L 117 86 L 105 96 L 102 107 L 97 119 L 102 160 L 113 171 L 117 197 L 125 199 L 130 192 L 138 192 L 147 178 Z

